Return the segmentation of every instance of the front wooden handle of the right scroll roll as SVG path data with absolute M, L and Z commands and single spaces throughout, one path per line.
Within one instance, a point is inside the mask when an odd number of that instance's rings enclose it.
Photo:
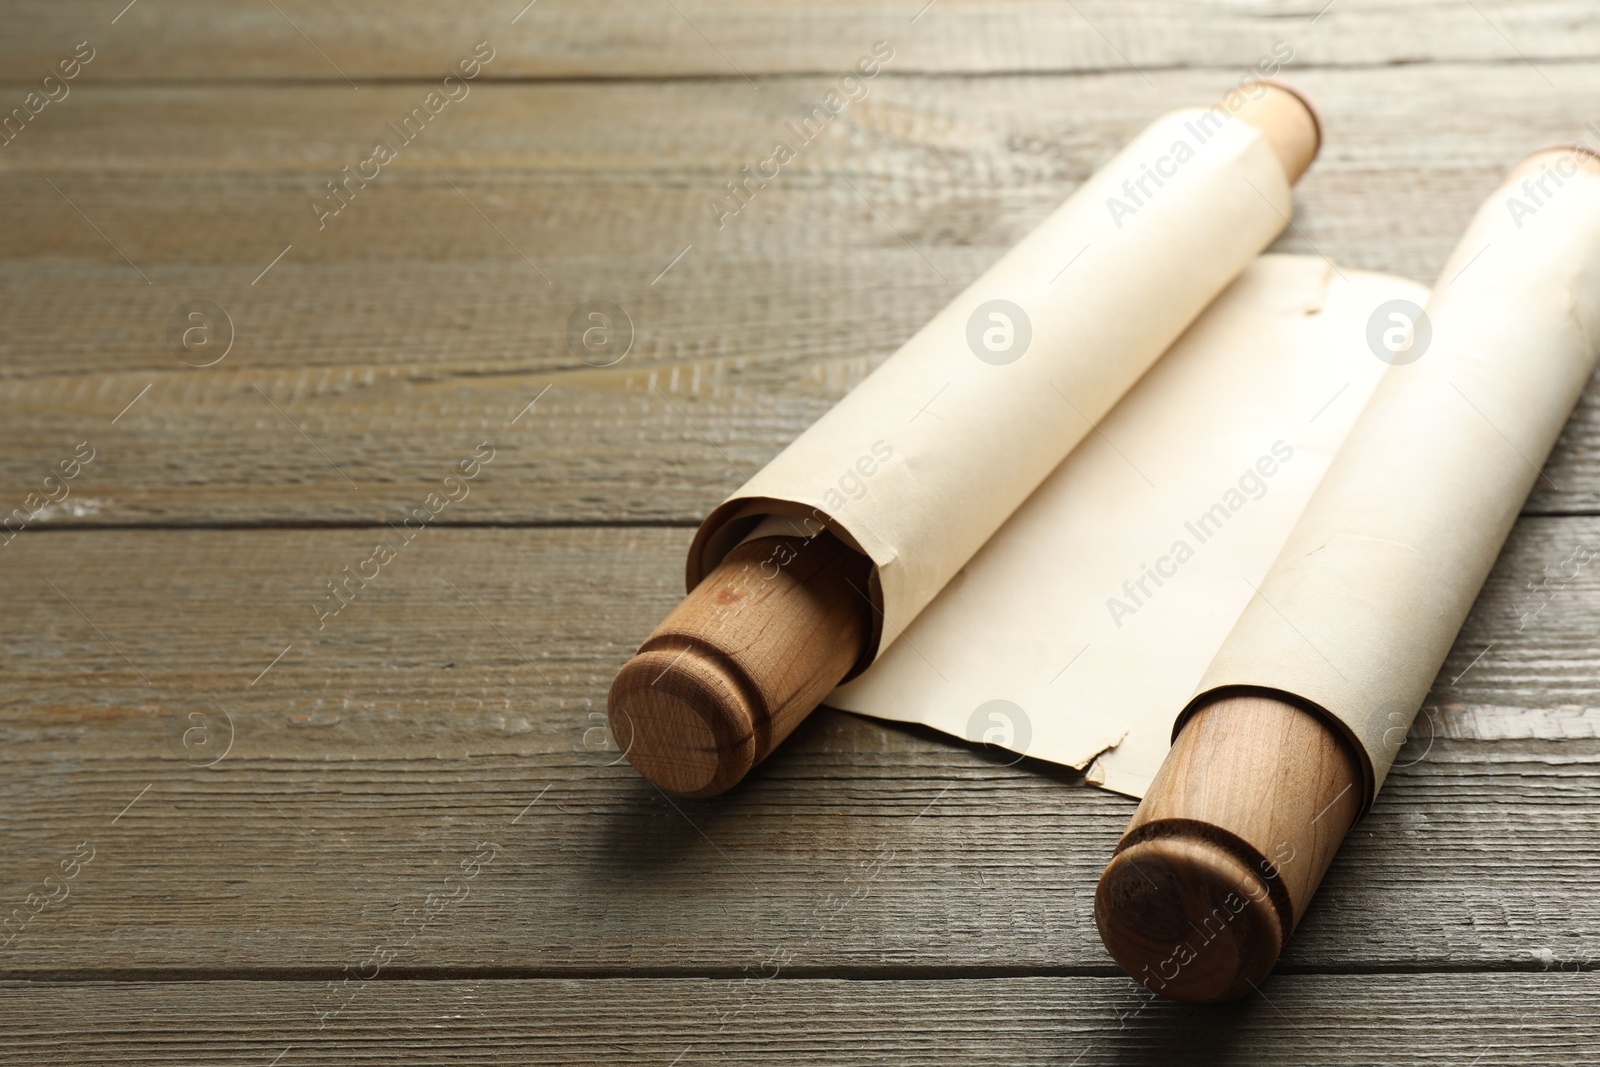
M 1320 717 L 1264 696 L 1195 712 L 1101 875 L 1094 923 L 1178 1000 L 1250 993 L 1362 808 L 1362 768 Z

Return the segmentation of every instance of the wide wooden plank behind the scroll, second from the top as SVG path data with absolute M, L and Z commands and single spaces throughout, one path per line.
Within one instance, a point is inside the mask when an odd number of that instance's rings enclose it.
M 1278 248 L 1430 277 L 1502 168 L 1582 133 L 1600 64 L 1560 74 L 1307 77 L 1330 147 Z M 480 86 L 325 230 L 310 195 L 413 88 L 83 86 L 0 174 L 0 485 L 21 504 L 90 438 L 38 523 L 384 522 L 491 440 L 445 522 L 698 522 L 1150 115 L 1218 88 L 1152 80 L 880 82 L 720 232 L 707 195 L 826 83 Z M 170 336 L 195 299 L 234 325 L 203 370 Z M 632 318 L 616 366 L 566 350 L 589 299 Z M 1597 403 L 1533 510 L 1600 507 Z

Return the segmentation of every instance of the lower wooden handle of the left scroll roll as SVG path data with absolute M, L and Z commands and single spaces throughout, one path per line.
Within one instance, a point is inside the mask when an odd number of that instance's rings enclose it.
M 685 797 L 730 789 L 856 665 L 870 561 L 834 534 L 738 545 L 611 683 L 611 736 Z

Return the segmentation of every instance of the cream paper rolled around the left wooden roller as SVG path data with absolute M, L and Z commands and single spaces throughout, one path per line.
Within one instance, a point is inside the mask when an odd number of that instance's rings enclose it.
M 691 547 L 690 587 L 760 515 L 826 517 L 877 565 L 877 656 L 1288 214 L 1259 130 L 1200 109 L 1157 120 L 723 502 Z M 990 301 L 1022 315 L 990 318 Z M 1013 328 L 1014 362 L 984 346 L 979 358 L 974 314 L 1000 349 Z

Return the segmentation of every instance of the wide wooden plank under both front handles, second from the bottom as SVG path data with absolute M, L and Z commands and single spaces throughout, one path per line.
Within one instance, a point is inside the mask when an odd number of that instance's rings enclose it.
M 299 976 L 374 944 L 405 945 L 400 973 L 704 974 L 774 949 L 802 974 L 1110 973 L 1090 909 L 1133 801 L 1070 771 L 834 712 L 720 800 L 613 766 L 605 691 L 675 601 L 686 531 L 430 530 L 317 629 L 323 581 L 376 537 L 6 549 L 0 904 L 59 894 L 80 843 L 93 861 L 0 974 Z M 1514 600 L 1594 539 L 1518 525 L 1283 966 L 1531 966 L 1600 941 L 1600 741 L 1552 726 L 1600 705 L 1600 587 L 1582 569 L 1522 630 Z M 1509 709 L 1541 715 L 1480 725 Z

